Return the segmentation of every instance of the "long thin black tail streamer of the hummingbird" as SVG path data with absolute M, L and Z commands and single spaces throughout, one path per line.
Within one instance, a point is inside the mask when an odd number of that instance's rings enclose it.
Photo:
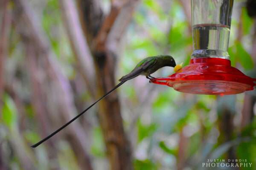
M 126 81 L 122 81 L 120 82 L 118 85 L 116 85 L 111 91 L 109 91 L 108 93 L 106 93 L 104 96 L 102 96 L 101 98 L 99 98 L 96 102 L 94 102 L 92 105 L 90 105 L 88 108 L 86 108 L 84 111 L 82 111 L 79 115 L 77 115 L 76 117 L 74 117 L 73 119 L 71 119 L 69 122 L 67 122 L 65 125 L 63 125 L 62 127 L 60 127 L 59 129 L 55 130 L 53 133 L 51 133 L 49 136 L 47 136 L 46 138 L 42 139 L 41 141 L 39 141 L 36 144 L 33 144 L 31 147 L 37 147 L 40 144 L 42 144 L 43 142 L 47 141 L 48 139 L 50 139 L 52 136 L 54 136 L 56 133 L 58 133 L 59 131 L 61 131 L 62 129 L 64 129 L 65 127 L 67 127 L 70 123 L 74 122 L 77 118 L 79 118 L 82 114 L 84 114 L 86 111 L 88 111 L 91 107 L 93 107 L 93 105 L 95 105 L 97 102 L 99 102 L 100 100 L 102 100 L 103 98 L 105 98 L 106 96 L 108 96 L 109 94 L 111 94 L 112 91 L 116 90 L 117 88 L 119 88 L 122 84 L 124 84 Z

